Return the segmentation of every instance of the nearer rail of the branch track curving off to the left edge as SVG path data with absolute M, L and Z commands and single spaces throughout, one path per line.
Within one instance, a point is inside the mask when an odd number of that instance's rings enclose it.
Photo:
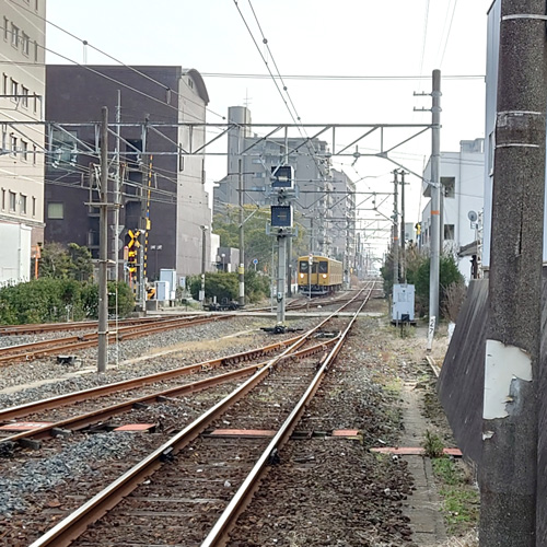
M 319 351 L 326 350 L 328 346 L 331 346 L 336 342 L 336 338 L 331 340 L 325 341 L 323 344 L 317 344 L 311 348 L 306 348 L 294 353 L 289 353 L 282 359 L 302 359 L 304 357 L 309 357 L 311 354 L 317 353 Z M 59 420 L 55 423 L 47 423 L 39 428 L 35 428 L 28 431 L 23 431 L 21 433 L 15 433 L 10 437 L 5 437 L 0 439 L 0 444 L 9 443 L 9 442 L 19 442 L 23 439 L 44 439 L 46 437 L 53 437 L 54 430 L 67 430 L 78 431 L 84 429 L 89 426 L 100 423 L 102 421 L 108 420 L 109 418 L 125 414 L 130 411 L 136 405 L 143 404 L 154 404 L 160 403 L 162 398 L 176 397 L 179 395 L 186 395 L 190 393 L 197 393 L 202 389 L 209 389 L 210 387 L 214 387 L 220 384 L 224 384 L 226 382 L 232 382 L 240 377 L 249 376 L 255 373 L 257 370 L 266 366 L 268 363 L 257 363 L 249 366 L 244 366 L 242 369 L 237 369 L 235 371 L 225 372 L 224 374 L 219 374 L 217 376 L 211 376 L 203 380 L 198 380 L 196 382 L 191 382 L 189 384 L 179 385 L 176 387 L 170 387 L 167 389 L 162 389 L 160 392 L 151 393 L 148 395 L 143 395 L 142 397 L 136 397 L 132 399 L 127 399 L 117 405 L 110 405 L 104 408 L 98 408 L 96 410 L 92 410 L 91 412 L 86 412 L 80 416 L 72 416 L 65 420 Z

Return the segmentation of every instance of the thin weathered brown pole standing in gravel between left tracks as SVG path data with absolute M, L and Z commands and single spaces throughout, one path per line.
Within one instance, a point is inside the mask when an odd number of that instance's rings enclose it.
M 106 372 L 108 360 L 108 108 L 103 106 L 101 125 L 101 203 L 98 229 L 98 351 L 97 372 Z

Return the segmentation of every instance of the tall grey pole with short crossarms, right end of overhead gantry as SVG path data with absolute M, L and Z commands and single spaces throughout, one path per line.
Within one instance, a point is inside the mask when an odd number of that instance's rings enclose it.
M 431 244 L 429 269 L 429 321 L 439 317 L 439 277 L 441 246 L 441 71 L 433 70 L 431 129 Z

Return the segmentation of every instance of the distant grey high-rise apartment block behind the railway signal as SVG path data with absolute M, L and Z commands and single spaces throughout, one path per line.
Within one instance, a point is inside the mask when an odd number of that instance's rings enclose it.
M 354 249 L 354 222 L 351 222 L 356 216 L 354 184 L 345 173 L 331 167 L 327 142 L 258 137 L 248 126 L 251 112 L 244 106 L 230 107 L 229 121 L 236 127 L 229 130 L 228 174 L 214 188 L 213 213 L 221 214 L 226 206 L 240 203 L 240 184 L 244 205 L 270 205 L 271 168 L 289 164 L 294 170 L 294 210 L 300 213 L 298 219 L 306 230 L 310 252 L 344 254 L 348 214 L 349 245 Z M 337 219 L 335 224 L 337 216 L 342 220 Z

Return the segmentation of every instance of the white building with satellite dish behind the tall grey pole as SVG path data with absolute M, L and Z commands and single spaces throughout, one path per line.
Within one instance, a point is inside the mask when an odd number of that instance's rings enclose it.
M 453 253 L 458 269 L 469 281 L 472 265 L 469 256 L 459 257 L 462 247 L 477 241 L 478 217 L 484 207 L 485 140 L 463 140 L 459 152 L 441 152 L 441 237 L 443 251 Z M 431 179 L 431 159 L 423 172 Z M 423 183 L 423 196 L 431 197 L 431 186 Z M 431 200 L 421 213 L 421 246 L 431 243 Z

